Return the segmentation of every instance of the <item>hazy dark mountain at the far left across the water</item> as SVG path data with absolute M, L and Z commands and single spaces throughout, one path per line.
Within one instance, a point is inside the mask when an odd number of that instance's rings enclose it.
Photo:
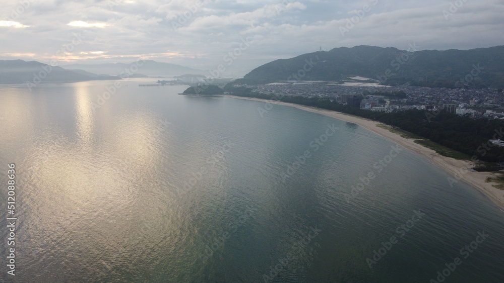
M 37 61 L 0 60 L 0 83 L 75 82 L 119 79 L 117 76 L 97 75 L 83 70 L 66 70 Z

